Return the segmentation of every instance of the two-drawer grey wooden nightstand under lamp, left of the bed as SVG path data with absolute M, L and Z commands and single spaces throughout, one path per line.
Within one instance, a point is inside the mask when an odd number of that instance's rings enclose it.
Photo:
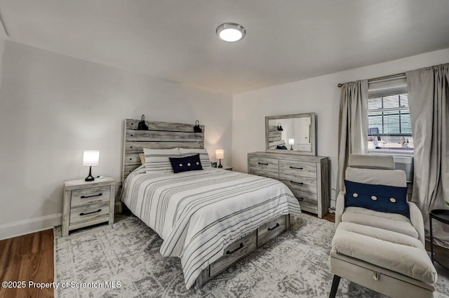
M 100 224 L 114 223 L 116 181 L 111 177 L 64 182 L 62 236 L 69 231 Z

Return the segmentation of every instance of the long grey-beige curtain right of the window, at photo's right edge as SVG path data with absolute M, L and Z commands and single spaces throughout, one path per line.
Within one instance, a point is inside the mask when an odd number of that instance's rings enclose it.
M 420 207 L 429 238 L 429 212 L 448 209 L 449 64 L 407 72 L 415 147 L 412 201 Z M 449 248 L 449 226 L 434 220 L 434 243 Z

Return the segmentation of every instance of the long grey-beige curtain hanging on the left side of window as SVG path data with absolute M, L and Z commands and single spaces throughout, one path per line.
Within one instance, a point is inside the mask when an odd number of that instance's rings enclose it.
M 337 195 L 344 189 L 349 154 L 366 154 L 368 146 L 368 81 L 344 83 L 338 121 Z

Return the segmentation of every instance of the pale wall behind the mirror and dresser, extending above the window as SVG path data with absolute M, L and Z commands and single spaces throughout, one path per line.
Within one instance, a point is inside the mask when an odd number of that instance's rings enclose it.
M 449 48 L 234 95 L 232 122 L 234 170 L 246 172 L 248 152 L 265 150 L 265 116 L 315 112 L 317 155 L 330 158 L 330 184 L 331 188 L 335 189 L 340 105 L 340 88 L 337 84 L 398 74 L 447 62 L 449 62 Z M 331 191 L 331 198 L 335 199 L 335 191 Z M 331 204 L 334 205 L 333 202 Z

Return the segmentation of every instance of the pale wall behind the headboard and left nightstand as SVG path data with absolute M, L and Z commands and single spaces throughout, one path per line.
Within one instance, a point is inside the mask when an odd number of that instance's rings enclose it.
M 232 164 L 232 95 L 132 74 L 6 41 L 0 89 L 0 238 L 60 224 L 64 180 L 121 175 L 123 121 L 206 126 L 205 145 Z M 1 63 L 0 63 L 1 65 Z

